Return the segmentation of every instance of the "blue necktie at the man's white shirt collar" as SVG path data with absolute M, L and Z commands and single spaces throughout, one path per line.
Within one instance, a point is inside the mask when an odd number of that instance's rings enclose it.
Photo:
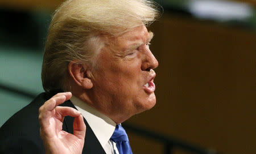
M 119 154 L 133 154 L 125 129 L 120 124 L 115 126 L 115 131 L 110 139 L 117 144 Z

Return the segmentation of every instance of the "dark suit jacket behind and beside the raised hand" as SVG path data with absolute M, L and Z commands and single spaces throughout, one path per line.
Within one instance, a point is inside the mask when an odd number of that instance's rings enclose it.
M 0 153 L 45 153 L 39 132 L 38 110 L 55 93 L 41 93 L 35 100 L 19 112 L 15 113 L 0 128 Z M 75 108 L 71 101 L 66 101 L 61 106 Z M 72 117 L 65 117 L 63 130 L 73 133 Z M 85 144 L 82 153 L 105 153 L 92 129 L 84 119 L 86 125 Z

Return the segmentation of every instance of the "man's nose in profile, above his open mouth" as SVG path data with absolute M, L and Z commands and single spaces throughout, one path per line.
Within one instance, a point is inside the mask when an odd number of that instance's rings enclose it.
M 141 69 L 143 71 L 150 71 L 151 69 L 155 69 L 156 67 L 158 67 L 158 61 L 156 60 L 152 52 L 150 50 L 146 50 L 145 52 L 146 53 L 142 62 Z

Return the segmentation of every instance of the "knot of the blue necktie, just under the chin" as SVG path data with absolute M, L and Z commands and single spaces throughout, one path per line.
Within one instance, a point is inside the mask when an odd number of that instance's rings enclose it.
M 115 143 L 120 141 L 129 141 L 125 129 L 119 124 L 115 126 L 115 131 L 111 138 Z

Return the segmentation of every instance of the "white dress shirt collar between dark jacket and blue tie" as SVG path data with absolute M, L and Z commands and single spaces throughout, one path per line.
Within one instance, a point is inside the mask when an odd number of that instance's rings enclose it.
M 72 96 L 70 100 L 88 122 L 106 154 L 119 154 L 115 142 L 110 140 L 116 123 L 77 97 Z

